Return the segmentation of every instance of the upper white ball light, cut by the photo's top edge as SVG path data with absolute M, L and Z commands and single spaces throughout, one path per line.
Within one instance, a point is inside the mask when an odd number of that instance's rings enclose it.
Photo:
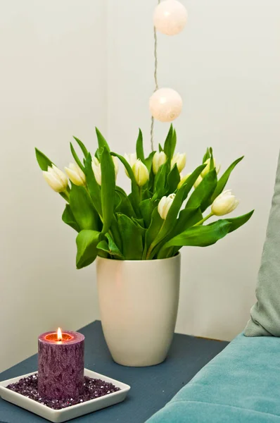
M 187 18 L 188 13 L 182 3 L 177 0 L 165 0 L 155 8 L 153 25 L 165 35 L 177 35 L 184 30 Z

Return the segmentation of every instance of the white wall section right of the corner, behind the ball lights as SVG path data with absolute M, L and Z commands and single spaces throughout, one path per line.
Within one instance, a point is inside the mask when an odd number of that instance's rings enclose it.
M 160 86 L 184 99 L 178 150 L 186 171 L 212 146 L 222 169 L 246 155 L 229 188 L 238 213 L 255 208 L 250 223 L 217 245 L 185 248 L 177 331 L 231 339 L 243 329 L 255 301 L 279 152 L 279 0 L 182 0 L 186 30 L 158 37 Z M 157 1 L 108 0 L 108 133 L 120 152 L 132 151 L 137 129 L 149 151 L 148 97 L 153 92 L 151 16 Z M 162 142 L 167 125 L 155 125 Z

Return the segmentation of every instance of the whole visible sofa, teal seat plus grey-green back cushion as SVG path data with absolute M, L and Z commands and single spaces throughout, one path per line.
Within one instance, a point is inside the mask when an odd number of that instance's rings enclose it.
M 280 156 L 257 303 L 244 333 L 148 423 L 280 423 Z

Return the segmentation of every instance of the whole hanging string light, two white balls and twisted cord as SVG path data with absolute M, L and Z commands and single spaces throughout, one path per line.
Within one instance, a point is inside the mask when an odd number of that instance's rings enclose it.
M 151 148 L 153 150 L 154 119 L 160 122 L 172 122 L 182 111 L 182 97 L 172 88 L 158 87 L 158 37 L 157 31 L 165 35 L 177 35 L 184 29 L 187 20 L 186 8 L 177 0 L 158 0 L 153 15 L 154 56 L 155 56 L 155 91 L 150 98 L 151 111 Z

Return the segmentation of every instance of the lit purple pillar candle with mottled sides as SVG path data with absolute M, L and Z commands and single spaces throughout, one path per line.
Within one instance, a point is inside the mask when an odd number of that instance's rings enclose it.
M 84 387 L 84 335 L 46 332 L 38 338 L 38 391 L 42 398 L 77 398 Z

